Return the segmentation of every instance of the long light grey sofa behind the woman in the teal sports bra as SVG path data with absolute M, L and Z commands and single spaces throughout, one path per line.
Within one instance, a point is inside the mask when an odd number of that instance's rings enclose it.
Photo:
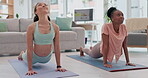
M 0 32 L 0 55 L 19 54 L 26 50 L 26 29 L 32 19 L 0 19 L 6 22 L 8 32 Z M 60 31 L 61 50 L 79 49 L 84 47 L 85 30 L 81 27 L 72 27 L 72 31 Z

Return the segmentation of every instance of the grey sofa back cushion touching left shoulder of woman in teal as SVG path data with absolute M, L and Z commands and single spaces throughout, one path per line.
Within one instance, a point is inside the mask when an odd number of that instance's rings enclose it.
M 26 32 L 28 25 L 33 23 L 33 19 L 20 19 L 20 32 Z

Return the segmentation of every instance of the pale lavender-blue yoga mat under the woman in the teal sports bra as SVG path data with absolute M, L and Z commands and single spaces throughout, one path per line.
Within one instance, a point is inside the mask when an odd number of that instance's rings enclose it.
M 25 74 L 28 71 L 28 66 L 25 62 L 19 61 L 17 59 L 11 59 L 8 61 L 13 66 L 15 71 L 19 74 L 20 78 L 65 78 L 79 76 L 78 74 L 68 70 L 66 72 L 56 72 L 56 65 L 50 62 L 46 64 L 37 63 L 33 65 L 33 70 L 36 71 L 38 74 L 27 76 Z

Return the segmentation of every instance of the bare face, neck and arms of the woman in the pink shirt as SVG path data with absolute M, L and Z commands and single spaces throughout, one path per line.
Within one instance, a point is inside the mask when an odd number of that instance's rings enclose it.
M 114 11 L 113 14 L 111 15 L 111 21 L 116 33 L 119 33 L 119 26 L 123 23 L 123 20 L 124 20 L 123 13 L 119 10 Z M 103 64 L 105 67 L 112 68 L 111 64 L 107 64 L 107 54 L 109 50 L 109 35 L 102 34 L 102 40 L 104 43 L 103 44 L 103 53 L 104 53 Z M 135 66 L 129 61 L 129 55 L 128 55 L 128 49 L 127 49 L 127 37 L 125 37 L 122 47 L 125 54 L 126 65 Z

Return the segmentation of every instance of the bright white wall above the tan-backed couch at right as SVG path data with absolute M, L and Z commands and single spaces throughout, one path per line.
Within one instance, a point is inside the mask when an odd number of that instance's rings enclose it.
M 133 2 L 132 2 L 133 1 Z M 133 12 L 132 5 L 138 5 L 138 12 Z M 124 13 L 125 19 L 130 17 L 147 17 L 147 0 L 117 0 L 117 8 Z

